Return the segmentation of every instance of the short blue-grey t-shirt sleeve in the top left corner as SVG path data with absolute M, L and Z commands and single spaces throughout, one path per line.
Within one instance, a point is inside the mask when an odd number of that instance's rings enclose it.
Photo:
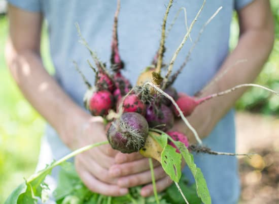
M 17 8 L 31 12 L 40 12 L 40 0 L 7 0 L 7 2 Z

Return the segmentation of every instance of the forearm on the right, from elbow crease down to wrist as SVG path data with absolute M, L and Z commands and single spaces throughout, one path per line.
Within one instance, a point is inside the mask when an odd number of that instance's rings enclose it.
M 222 75 L 225 70 L 227 72 L 217 82 L 213 82 L 213 85 L 209 86 L 208 89 L 205 89 L 199 97 L 225 91 L 235 85 L 251 83 L 255 80 L 273 46 L 272 18 L 263 23 L 263 25 L 262 27 L 252 26 L 241 30 L 236 48 L 228 54 L 212 82 L 220 74 Z M 246 60 L 246 62 L 236 63 L 239 60 Z M 235 66 L 228 70 L 234 64 Z M 208 100 L 195 109 L 191 116 L 188 117 L 188 120 L 201 138 L 211 133 L 218 121 L 234 106 L 235 102 L 246 90 L 247 88 L 241 88 L 230 94 Z M 191 142 L 196 142 L 192 132 L 182 121 L 178 121 L 175 128 L 186 133 Z

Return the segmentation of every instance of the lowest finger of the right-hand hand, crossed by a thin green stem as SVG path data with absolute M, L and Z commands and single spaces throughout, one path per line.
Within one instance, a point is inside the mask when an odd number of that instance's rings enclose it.
M 163 190 L 165 190 L 167 187 L 169 187 L 171 184 L 172 184 L 171 179 L 168 176 L 166 176 L 156 182 L 156 190 L 158 193 L 160 193 Z M 148 184 L 148 185 L 144 186 L 141 190 L 141 195 L 143 197 L 151 196 L 153 194 L 154 194 L 154 192 L 153 192 L 152 184 Z

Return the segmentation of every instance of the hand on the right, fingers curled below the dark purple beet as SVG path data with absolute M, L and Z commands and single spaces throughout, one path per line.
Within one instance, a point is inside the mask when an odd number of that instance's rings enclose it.
M 153 194 L 151 171 L 148 158 L 140 153 L 122 154 L 115 157 L 113 166 L 109 169 L 112 178 L 118 178 L 117 185 L 122 188 L 144 185 L 141 195 L 144 197 Z M 153 160 L 154 174 L 156 179 L 157 192 L 163 191 L 171 185 L 172 181 L 165 174 L 161 164 Z

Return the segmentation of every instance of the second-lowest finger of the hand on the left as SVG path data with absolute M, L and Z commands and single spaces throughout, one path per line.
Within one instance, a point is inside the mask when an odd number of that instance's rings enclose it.
M 77 156 L 76 158 L 78 161 L 76 162 L 77 165 L 83 166 L 85 170 L 90 172 L 94 177 L 102 182 L 106 182 L 109 184 L 117 184 L 117 180 L 110 177 L 108 169 L 102 168 L 99 164 L 97 164 L 92 159 L 86 159 L 83 156 Z

